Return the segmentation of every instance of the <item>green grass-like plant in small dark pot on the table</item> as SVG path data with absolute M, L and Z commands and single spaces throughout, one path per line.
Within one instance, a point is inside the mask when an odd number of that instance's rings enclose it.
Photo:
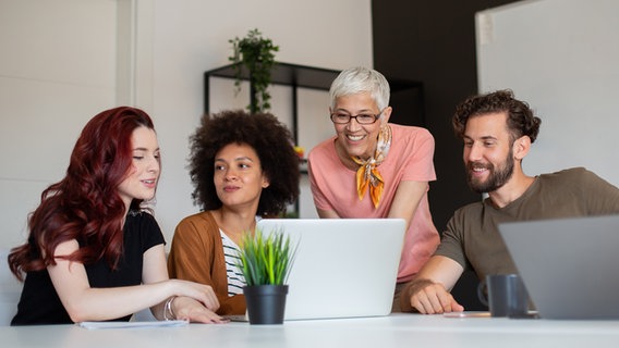
M 296 248 L 281 231 L 265 236 L 260 229 L 246 233 L 239 252 L 239 269 L 251 324 L 281 324 L 286 310 L 286 284 Z

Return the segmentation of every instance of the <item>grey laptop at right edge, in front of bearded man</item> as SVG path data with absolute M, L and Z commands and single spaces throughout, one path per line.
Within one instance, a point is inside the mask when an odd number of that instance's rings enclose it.
M 619 319 L 619 215 L 505 223 L 499 231 L 541 318 Z

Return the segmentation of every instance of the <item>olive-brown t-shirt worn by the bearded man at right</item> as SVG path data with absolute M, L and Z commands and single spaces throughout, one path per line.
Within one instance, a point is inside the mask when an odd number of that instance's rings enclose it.
M 593 172 L 574 167 L 543 174 L 503 208 L 496 208 L 487 198 L 457 210 L 435 254 L 472 269 L 480 279 L 486 274 L 517 273 L 498 232 L 499 223 L 618 213 L 619 189 Z

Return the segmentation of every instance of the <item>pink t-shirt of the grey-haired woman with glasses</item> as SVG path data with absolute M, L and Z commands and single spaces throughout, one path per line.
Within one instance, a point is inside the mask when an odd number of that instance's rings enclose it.
M 320 142 L 308 154 L 310 183 L 316 208 L 333 210 L 340 217 L 387 217 L 400 182 L 436 179 L 434 138 L 429 132 L 421 127 L 389 125 L 392 130 L 391 148 L 378 166 L 385 179 L 378 208 L 374 208 L 369 190 L 363 200 L 359 199 L 356 173 L 345 167 L 338 158 L 335 137 Z M 426 190 L 405 234 L 398 283 L 411 279 L 434 253 L 438 243 Z

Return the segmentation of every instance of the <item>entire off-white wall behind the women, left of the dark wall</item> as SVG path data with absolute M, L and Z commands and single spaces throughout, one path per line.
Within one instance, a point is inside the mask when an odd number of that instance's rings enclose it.
M 118 104 L 155 120 L 163 156 L 155 210 L 170 240 L 179 220 L 198 210 L 185 165 L 203 73 L 228 64 L 228 39 L 254 27 L 280 46 L 282 62 L 373 63 L 369 0 L 0 0 L 0 248 L 23 241 L 27 213 L 63 176 L 84 124 Z M 246 104 L 229 90 L 220 108 Z M 284 121 L 289 94 L 274 90 L 274 113 Z M 305 115 L 328 121 L 325 95 L 300 99 Z M 306 183 L 302 191 L 302 214 L 314 214 Z

